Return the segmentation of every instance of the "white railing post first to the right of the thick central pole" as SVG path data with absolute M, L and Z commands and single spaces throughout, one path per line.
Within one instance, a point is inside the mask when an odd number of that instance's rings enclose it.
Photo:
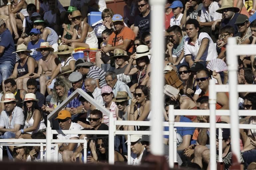
M 169 167 L 173 168 L 174 167 L 174 155 L 173 155 L 173 150 L 174 150 L 174 107 L 173 105 L 169 105 L 169 110 L 168 110 L 168 121 L 169 121 Z

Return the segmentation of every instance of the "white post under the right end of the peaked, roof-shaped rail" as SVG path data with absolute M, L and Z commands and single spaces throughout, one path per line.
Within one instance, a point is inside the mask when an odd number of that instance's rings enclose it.
M 114 143 L 114 137 L 115 137 L 115 123 L 113 118 L 113 113 L 110 112 L 109 114 L 109 164 L 115 163 L 115 143 Z

